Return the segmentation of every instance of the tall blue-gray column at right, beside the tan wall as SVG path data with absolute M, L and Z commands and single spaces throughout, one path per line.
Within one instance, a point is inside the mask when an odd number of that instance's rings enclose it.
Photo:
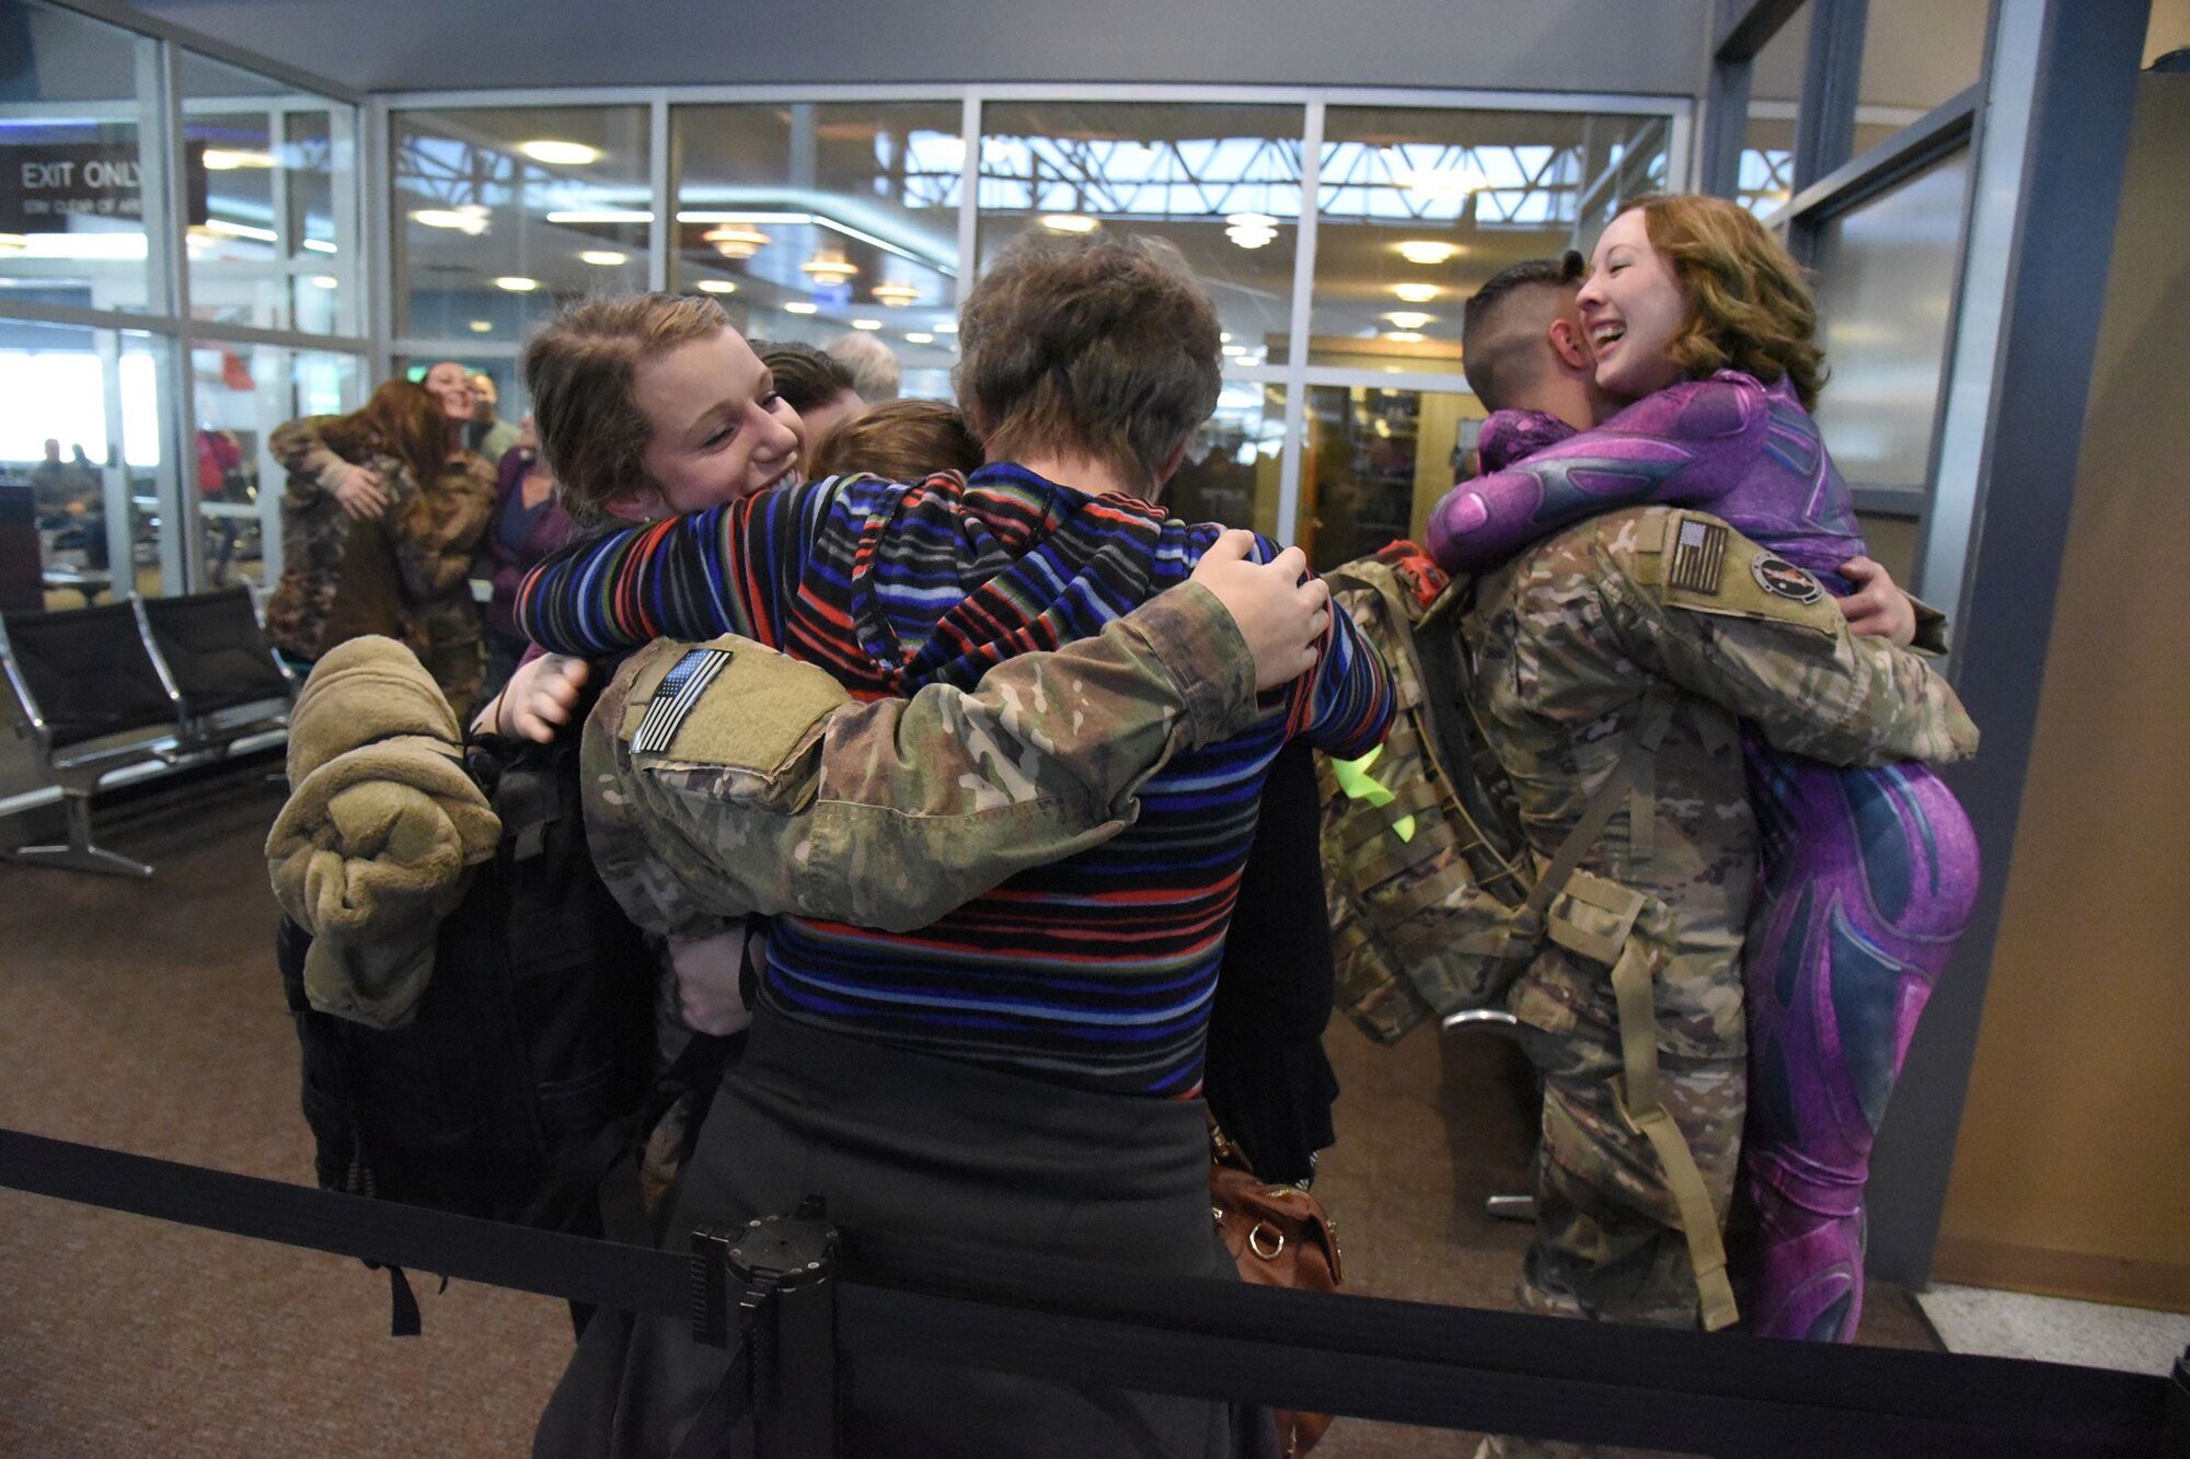
M 1953 677 L 1984 747 L 1947 780 L 1975 822 L 1986 868 L 1872 1165 L 1870 1266 L 1907 1286 L 1932 1273 L 1999 931 L 2146 20 L 2148 0 L 1997 0 L 1993 22 L 1921 574 L 1927 594 L 1956 602 Z M 2065 1001 L 2063 1016 L 2072 1012 Z

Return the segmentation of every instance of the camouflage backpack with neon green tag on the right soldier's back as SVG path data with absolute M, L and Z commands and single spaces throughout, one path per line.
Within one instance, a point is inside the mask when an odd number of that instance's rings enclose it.
M 1548 863 L 1520 830 L 1513 784 L 1469 710 L 1461 642 L 1469 581 L 1395 541 L 1325 574 L 1391 668 L 1391 736 L 1358 760 L 1318 758 L 1323 881 L 1338 1008 L 1393 1043 L 1428 1016 L 1502 1003 L 1546 938 L 1546 909 L 1603 835 L 1671 703 L 1590 797 Z

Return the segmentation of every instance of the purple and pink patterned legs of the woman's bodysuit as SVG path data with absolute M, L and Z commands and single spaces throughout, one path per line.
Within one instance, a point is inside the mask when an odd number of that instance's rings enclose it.
M 1833 769 L 1745 736 L 1761 850 L 1743 944 L 1761 1336 L 1846 1343 L 1864 1183 L 1910 1036 L 1978 896 L 1978 837 L 1929 769 Z

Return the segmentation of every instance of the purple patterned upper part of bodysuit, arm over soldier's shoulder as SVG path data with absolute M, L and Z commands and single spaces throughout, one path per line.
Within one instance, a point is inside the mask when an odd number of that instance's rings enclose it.
M 1430 513 L 1430 556 L 1478 572 L 1623 506 L 1697 506 L 1840 583 L 1864 552 L 1855 499 L 1787 379 L 1719 370 L 1642 397 L 1590 432 L 1540 412 L 1483 425 L 1485 475 Z

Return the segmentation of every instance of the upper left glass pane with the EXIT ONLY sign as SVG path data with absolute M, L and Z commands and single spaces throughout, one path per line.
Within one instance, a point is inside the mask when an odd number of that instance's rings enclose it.
M 0 99 L 0 298 L 77 309 L 151 305 L 138 50 L 153 42 L 46 4 L 22 4 L 28 39 Z M 151 206 L 158 217 L 158 199 Z

